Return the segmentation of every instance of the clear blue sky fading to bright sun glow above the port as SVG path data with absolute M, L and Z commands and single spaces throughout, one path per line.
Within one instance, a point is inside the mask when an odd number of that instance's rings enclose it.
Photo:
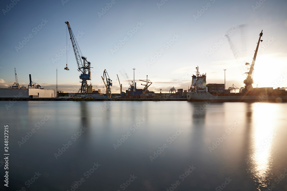
M 242 87 L 261 30 L 253 87 L 287 87 L 285 0 L 5 0 L 0 7 L 1 88 L 13 85 L 16 68 L 20 85 L 28 87 L 31 74 L 45 89 L 56 89 L 58 69 L 59 90 L 78 91 L 81 73 L 65 21 L 91 62 L 89 83 L 96 89 L 104 89 L 104 69 L 112 93 L 120 91 L 117 74 L 125 91 L 133 72 L 138 89 L 147 75 L 150 91 L 188 89 L 197 66 L 207 83 L 224 83 L 226 69 L 226 87 Z

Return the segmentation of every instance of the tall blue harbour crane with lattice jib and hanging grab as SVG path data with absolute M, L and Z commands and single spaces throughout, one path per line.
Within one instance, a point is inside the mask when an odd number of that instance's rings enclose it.
M 81 91 L 82 94 L 86 94 L 86 93 L 88 93 L 87 80 L 91 80 L 92 79 L 91 63 L 87 61 L 86 57 L 82 56 L 82 52 L 81 52 L 81 50 L 79 48 L 79 45 L 77 44 L 77 41 L 74 38 L 74 34 L 73 34 L 73 31 L 72 31 L 72 29 L 70 27 L 69 22 L 66 21 L 65 24 L 67 24 L 67 27 L 69 29 L 70 39 L 71 39 L 71 42 L 72 42 L 72 45 L 73 45 L 73 49 L 74 49 L 74 53 L 75 53 L 75 57 L 76 57 L 77 65 L 78 65 L 78 71 L 82 72 L 82 74 L 79 76 L 79 78 L 82 80 L 81 81 L 82 82 L 81 89 L 79 89 L 79 91 Z M 81 55 L 79 54 L 78 49 L 79 49 Z M 78 93 L 79 93 L 79 91 L 78 91 Z

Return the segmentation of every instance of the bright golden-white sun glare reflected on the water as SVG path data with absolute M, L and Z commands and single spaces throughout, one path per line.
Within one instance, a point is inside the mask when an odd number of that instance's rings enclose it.
M 272 141 L 274 132 L 274 110 L 276 105 L 254 103 L 250 108 L 253 113 L 252 117 L 252 140 L 250 154 L 250 172 L 259 183 L 258 190 L 267 187 L 269 184 L 270 170 L 272 169 Z M 267 112 L 268 111 L 268 112 Z

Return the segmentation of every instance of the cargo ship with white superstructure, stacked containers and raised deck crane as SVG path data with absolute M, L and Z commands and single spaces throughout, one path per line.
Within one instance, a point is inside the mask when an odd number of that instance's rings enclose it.
M 273 87 L 253 87 L 253 72 L 255 59 L 262 42 L 263 30 L 259 34 L 257 47 L 247 77 L 243 81 L 245 84 L 239 93 L 232 93 L 230 89 L 225 89 L 225 84 L 206 84 L 206 73 L 200 74 L 199 67 L 196 67 L 196 75 L 192 76 L 191 86 L 187 92 L 188 101 L 217 101 L 217 102 L 287 102 L 286 88 L 273 89 Z M 246 63 L 249 65 L 249 63 Z

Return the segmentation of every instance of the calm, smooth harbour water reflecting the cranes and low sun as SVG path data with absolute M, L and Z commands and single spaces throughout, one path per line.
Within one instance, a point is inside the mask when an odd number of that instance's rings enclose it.
M 1 190 L 287 190 L 287 104 L 5 104 Z

